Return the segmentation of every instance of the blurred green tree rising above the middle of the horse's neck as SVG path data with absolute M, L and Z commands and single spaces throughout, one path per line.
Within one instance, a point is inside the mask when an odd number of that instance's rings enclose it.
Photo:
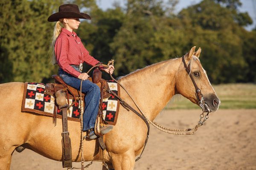
M 178 51 L 172 47 L 183 34 L 176 34 L 168 25 L 176 3 L 169 0 L 171 5 L 166 6 L 163 0 L 127 1 L 125 19 L 111 44 L 119 75 L 169 59 Z

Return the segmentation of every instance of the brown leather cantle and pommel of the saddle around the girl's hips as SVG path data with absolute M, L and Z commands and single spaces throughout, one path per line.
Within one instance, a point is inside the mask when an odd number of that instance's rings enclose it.
M 55 83 L 46 84 L 47 94 L 54 96 L 56 91 L 67 88 L 68 98 L 79 99 L 80 89 L 77 90 L 70 85 L 67 85 L 58 75 L 52 75 L 52 78 L 55 80 Z M 88 80 L 99 86 L 102 94 L 102 99 L 108 98 L 110 96 L 110 94 L 107 92 L 109 90 L 108 82 L 106 82 L 105 79 L 102 79 L 102 72 L 99 70 L 99 68 L 94 69 L 93 77 L 89 77 Z M 82 93 L 82 97 L 84 97 L 85 95 L 86 94 Z

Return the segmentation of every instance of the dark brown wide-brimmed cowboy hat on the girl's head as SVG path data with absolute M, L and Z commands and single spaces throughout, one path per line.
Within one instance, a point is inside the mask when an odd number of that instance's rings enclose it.
M 61 18 L 82 18 L 90 20 L 90 15 L 81 13 L 76 4 L 64 4 L 59 6 L 59 11 L 48 17 L 49 22 L 58 21 Z

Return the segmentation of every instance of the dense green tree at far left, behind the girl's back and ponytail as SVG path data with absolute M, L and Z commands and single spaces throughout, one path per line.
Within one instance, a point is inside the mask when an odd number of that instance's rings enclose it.
M 0 20 L 0 82 L 41 82 L 54 67 L 48 55 L 52 25 L 47 17 L 58 6 L 52 0 L 3 0 Z

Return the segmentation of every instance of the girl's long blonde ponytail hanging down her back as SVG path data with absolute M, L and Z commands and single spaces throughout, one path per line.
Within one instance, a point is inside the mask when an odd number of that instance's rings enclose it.
M 55 56 L 55 41 L 58 38 L 59 34 L 61 33 L 61 28 L 63 27 L 63 19 L 60 19 L 56 22 L 54 30 L 53 30 L 53 36 L 52 36 L 52 43 L 50 45 L 50 52 L 52 54 L 52 64 L 58 64 L 56 56 Z

